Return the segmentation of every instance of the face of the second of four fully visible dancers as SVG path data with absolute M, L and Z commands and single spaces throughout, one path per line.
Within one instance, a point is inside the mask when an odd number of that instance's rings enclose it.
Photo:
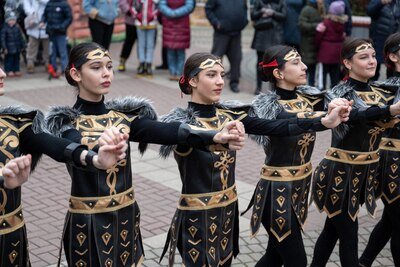
M 189 81 L 192 86 L 192 101 L 199 104 L 213 104 L 219 102 L 224 87 L 224 68 L 215 64 L 204 69 Z

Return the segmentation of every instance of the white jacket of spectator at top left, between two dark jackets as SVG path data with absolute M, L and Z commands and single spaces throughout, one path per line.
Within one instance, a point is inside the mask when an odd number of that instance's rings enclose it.
M 49 0 L 24 0 L 24 11 L 27 16 L 35 16 L 37 19 L 37 24 L 39 24 L 46 4 Z M 27 28 L 27 25 L 25 25 Z M 46 33 L 46 29 L 40 29 L 39 26 L 33 27 L 31 29 L 26 30 L 29 36 L 32 36 L 36 39 L 47 39 L 49 36 Z

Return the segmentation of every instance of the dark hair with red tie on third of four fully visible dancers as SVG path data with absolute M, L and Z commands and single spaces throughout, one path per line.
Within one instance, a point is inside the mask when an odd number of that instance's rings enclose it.
M 287 53 L 290 51 L 295 50 L 295 48 L 287 45 L 274 45 L 269 47 L 267 50 L 265 50 L 264 55 L 263 55 L 263 61 L 258 63 L 257 71 L 260 74 L 261 80 L 264 82 L 271 82 L 273 84 L 276 83 L 276 79 L 274 77 L 273 71 L 274 69 L 283 69 L 285 67 L 286 61 L 283 59 Z M 270 66 L 270 67 L 265 67 L 262 65 L 267 65 L 271 62 L 276 60 L 278 66 Z

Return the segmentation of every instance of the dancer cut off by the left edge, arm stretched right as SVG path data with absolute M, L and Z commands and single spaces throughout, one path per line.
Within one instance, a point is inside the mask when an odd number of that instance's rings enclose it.
M 0 69 L 0 95 L 4 94 L 5 77 Z M 110 145 L 102 146 L 97 156 L 82 145 L 44 133 L 42 125 L 43 114 L 38 110 L 0 108 L 0 266 L 30 266 L 20 187 L 27 178 L 26 165 L 33 170 L 44 153 L 90 171 L 93 166 L 107 169 L 125 156 L 127 137 L 111 130 L 101 136 L 102 143 Z M 21 158 L 23 154 L 29 155 Z M 24 170 L 22 177 L 10 177 L 9 168 L 17 172 L 18 167 Z

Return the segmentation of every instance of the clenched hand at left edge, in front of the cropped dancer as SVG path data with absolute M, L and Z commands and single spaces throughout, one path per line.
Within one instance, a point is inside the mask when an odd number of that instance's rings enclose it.
M 32 156 L 25 155 L 10 160 L 2 169 L 4 187 L 14 189 L 28 180 L 31 171 Z

